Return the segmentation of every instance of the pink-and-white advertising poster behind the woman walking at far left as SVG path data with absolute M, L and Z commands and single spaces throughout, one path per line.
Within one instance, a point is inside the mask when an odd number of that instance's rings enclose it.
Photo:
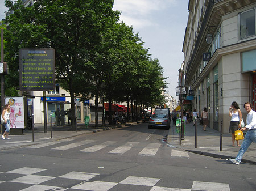
M 10 104 L 10 124 L 11 128 L 24 128 L 24 98 L 6 97 L 5 103 Z

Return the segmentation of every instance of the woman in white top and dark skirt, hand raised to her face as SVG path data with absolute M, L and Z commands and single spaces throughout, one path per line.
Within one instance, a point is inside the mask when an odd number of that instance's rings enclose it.
M 241 128 L 241 120 L 242 120 L 242 112 L 236 103 L 236 101 L 233 101 L 231 104 L 231 107 L 229 108 L 229 116 L 231 117 L 230 125 L 229 125 L 229 133 L 232 133 L 232 146 L 234 145 L 235 140 L 235 131 L 239 128 Z M 239 140 L 237 140 L 237 146 L 239 145 Z

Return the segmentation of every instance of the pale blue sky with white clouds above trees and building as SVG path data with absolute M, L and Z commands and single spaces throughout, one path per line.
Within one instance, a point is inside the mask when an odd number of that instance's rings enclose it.
M 115 0 L 114 10 L 120 20 L 139 33 L 151 58 L 158 58 L 167 77 L 167 91 L 177 99 L 178 70 L 184 60 L 182 52 L 188 20 L 188 0 Z M 4 18 L 5 1 L 0 0 L 0 19 Z

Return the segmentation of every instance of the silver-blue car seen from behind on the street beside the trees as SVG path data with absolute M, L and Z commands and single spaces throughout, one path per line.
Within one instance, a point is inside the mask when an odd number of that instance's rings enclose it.
M 168 114 L 153 114 L 148 122 L 148 129 L 163 127 L 164 129 L 170 128 L 170 118 Z

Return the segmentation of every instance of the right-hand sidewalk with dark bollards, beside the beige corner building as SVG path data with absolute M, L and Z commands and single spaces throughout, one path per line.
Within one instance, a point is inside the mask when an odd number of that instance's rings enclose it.
M 185 124 L 184 140 L 179 139 L 179 133 L 176 133 L 176 126 L 169 130 L 168 144 L 172 147 L 182 148 L 185 151 L 201 154 L 205 156 L 212 156 L 214 158 L 229 159 L 235 158 L 240 147 L 232 146 L 232 135 L 223 134 L 222 137 L 222 151 L 220 151 L 220 132 L 214 129 L 206 128 L 202 130 L 203 126 L 197 122 L 197 148 L 195 148 L 195 126 L 193 122 Z M 242 140 L 240 140 L 240 145 Z M 235 141 L 236 144 L 236 141 Z M 243 155 L 242 162 L 256 164 L 256 144 L 251 143 L 250 147 Z

